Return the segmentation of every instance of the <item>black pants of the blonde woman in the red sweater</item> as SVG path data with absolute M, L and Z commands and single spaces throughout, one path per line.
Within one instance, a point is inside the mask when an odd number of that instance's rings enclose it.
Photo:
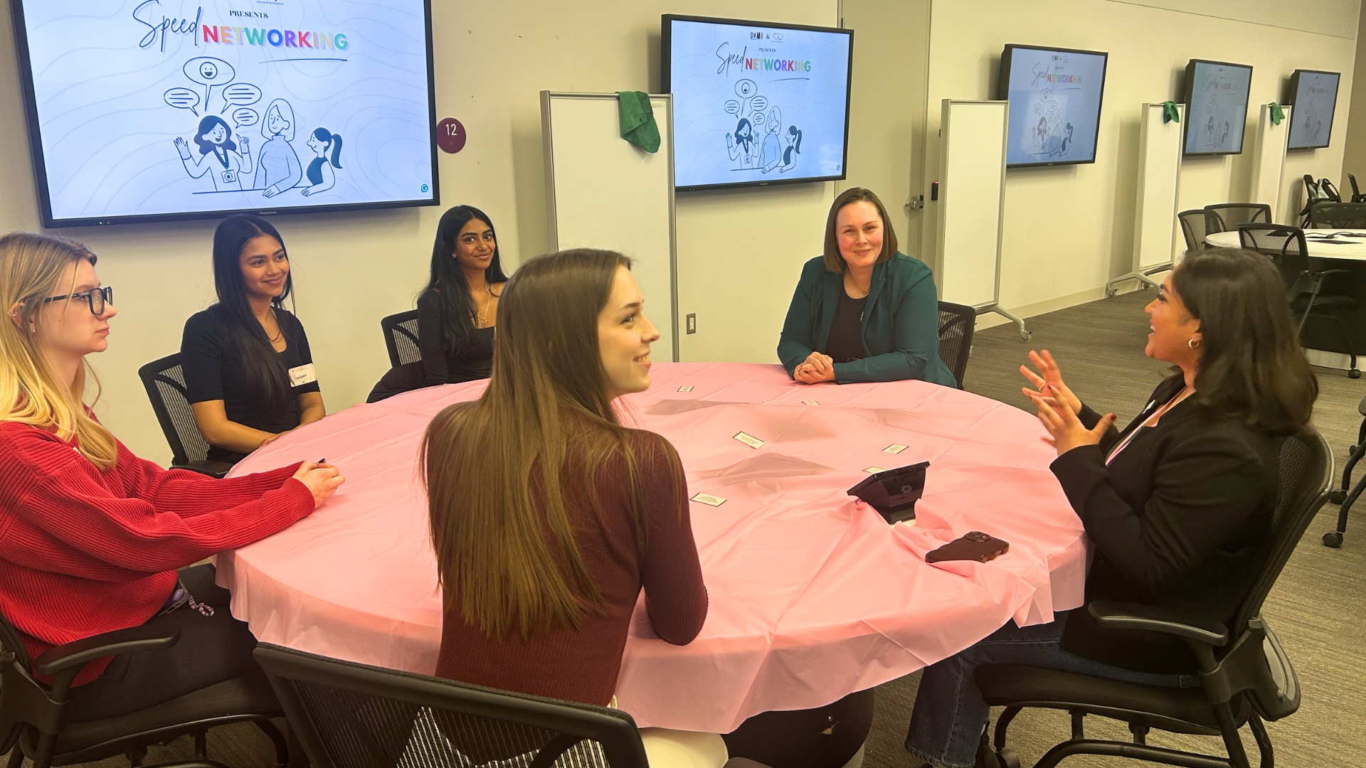
M 71 689 L 67 722 L 137 712 L 258 670 L 251 657 L 255 637 L 232 618 L 232 596 L 213 584 L 213 566 L 183 568 L 180 581 L 197 603 L 213 607 L 213 615 L 184 605 L 149 619 L 145 626 L 179 627 L 180 641 L 165 650 L 116 656 L 102 675 Z

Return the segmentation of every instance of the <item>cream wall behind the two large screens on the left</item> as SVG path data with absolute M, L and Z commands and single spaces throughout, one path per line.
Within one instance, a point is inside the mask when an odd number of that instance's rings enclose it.
M 0 232 L 38 230 L 14 30 L 0 12 Z M 658 89 L 660 14 L 835 26 L 836 0 L 750 5 L 688 0 L 433 3 L 437 118 L 469 130 L 441 154 L 441 208 L 280 216 L 328 409 L 365 399 L 388 368 L 380 317 L 413 307 L 445 206 L 469 202 L 494 219 L 510 266 L 546 245 L 538 92 Z M 611 197 L 609 183 L 602 194 Z M 802 261 L 820 253 L 832 184 L 679 195 L 679 309 L 698 314 L 684 359 L 775 361 L 777 332 Z M 100 256 L 119 317 L 94 358 L 100 417 L 134 452 L 163 463 L 169 450 L 137 379 L 139 365 L 180 347 L 184 320 L 213 301 L 214 221 L 64 230 Z

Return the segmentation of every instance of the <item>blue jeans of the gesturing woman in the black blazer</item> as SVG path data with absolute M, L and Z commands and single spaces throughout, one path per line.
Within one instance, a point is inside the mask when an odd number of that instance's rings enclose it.
M 1112 681 L 1165 687 L 1199 687 L 1195 675 L 1157 675 L 1111 667 L 1061 648 L 1067 612 L 1052 623 L 1018 627 L 1007 623 L 985 640 L 937 661 L 921 674 L 906 752 L 936 768 L 973 768 L 990 707 L 982 701 L 973 672 L 984 664 L 1023 664 Z

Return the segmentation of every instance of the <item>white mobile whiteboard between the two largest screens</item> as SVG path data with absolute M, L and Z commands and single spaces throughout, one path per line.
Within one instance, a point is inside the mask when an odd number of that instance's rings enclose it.
M 631 257 L 658 358 L 678 361 L 673 230 L 673 97 L 650 96 L 660 150 L 622 138 L 615 93 L 541 92 L 541 143 L 550 249 L 598 247 Z

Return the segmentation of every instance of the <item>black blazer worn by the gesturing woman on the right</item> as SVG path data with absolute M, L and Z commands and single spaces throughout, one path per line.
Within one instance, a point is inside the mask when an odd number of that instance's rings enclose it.
M 1162 605 L 1231 622 L 1265 558 L 1276 504 L 1279 440 L 1239 417 L 1210 420 L 1188 398 L 1109 451 L 1183 388 L 1176 380 L 1126 429 L 1059 456 L 1053 474 L 1096 549 L 1086 601 Z M 1100 415 L 1083 409 L 1082 424 Z M 1157 633 L 1101 629 L 1086 609 L 1067 622 L 1063 648 L 1130 670 L 1195 670 L 1184 642 Z

